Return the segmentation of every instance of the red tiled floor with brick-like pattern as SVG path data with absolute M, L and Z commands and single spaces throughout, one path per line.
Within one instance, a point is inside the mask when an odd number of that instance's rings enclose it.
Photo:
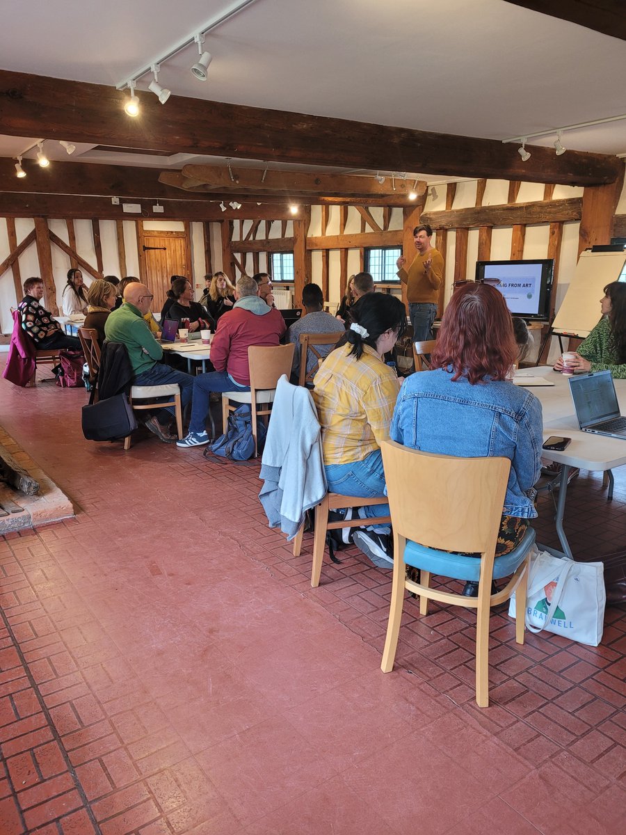
M 348 549 L 312 590 L 311 538 L 294 559 L 267 529 L 257 465 L 86 443 L 79 390 L 0 398 L 77 510 L 0 539 L 2 835 L 621 831 L 626 607 L 598 648 L 518 646 L 494 612 L 481 710 L 472 613 L 407 601 L 382 675 L 390 574 Z M 615 476 L 611 503 L 597 474 L 570 486 L 581 555 L 626 541 Z

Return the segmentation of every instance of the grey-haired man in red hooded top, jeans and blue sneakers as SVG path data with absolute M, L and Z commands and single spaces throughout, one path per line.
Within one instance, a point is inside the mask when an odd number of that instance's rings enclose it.
M 201 447 L 211 438 L 206 431 L 210 392 L 249 392 L 250 345 L 274 346 L 285 333 L 280 311 L 265 304 L 253 278 L 242 276 L 235 286 L 237 301 L 233 309 L 220 316 L 211 343 L 211 362 L 215 372 L 194 377 L 189 434 L 178 447 Z

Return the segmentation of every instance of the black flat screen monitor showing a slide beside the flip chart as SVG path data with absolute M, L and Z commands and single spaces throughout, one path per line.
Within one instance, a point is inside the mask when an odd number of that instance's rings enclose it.
M 512 316 L 548 321 L 554 261 L 477 261 L 476 281 L 488 281 L 502 293 Z

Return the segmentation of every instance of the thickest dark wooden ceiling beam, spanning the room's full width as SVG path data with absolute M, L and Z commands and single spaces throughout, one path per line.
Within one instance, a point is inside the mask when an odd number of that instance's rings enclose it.
M 172 95 L 165 106 L 136 91 L 141 113 L 124 113 L 127 93 L 28 73 L 0 71 L 4 134 L 91 142 L 170 153 L 212 154 L 274 162 L 369 170 L 604 185 L 618 178 L 620 161 L 605 154 L 533 145 L 526 162 L 513 143 L 329 119 Z

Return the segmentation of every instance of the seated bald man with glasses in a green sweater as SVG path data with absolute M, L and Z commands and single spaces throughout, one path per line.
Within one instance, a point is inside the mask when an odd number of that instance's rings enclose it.
M 104 334 L 109 342 L 122 342 L 129 352 L 130 364 L 134 372 L 136 386 L 164 386 L 178 383 L 182 407 L 191 401 L 194 378 L 189 374 L 176 371 L 159 360 L 163 357 L 163 348 L 154 339 L 148 323 L 144 320 L 154 296 L 144 284 L 129 284 L 124 290 L 124 304 L 113 311 L 104 325 Z M 149 417 L 145 426 L 164 443 L 174 443 L 176 436 L 169 432 L 171 420 L 169 412 L 174 414 L 174 407 L 159 409 L 159 417 Z

